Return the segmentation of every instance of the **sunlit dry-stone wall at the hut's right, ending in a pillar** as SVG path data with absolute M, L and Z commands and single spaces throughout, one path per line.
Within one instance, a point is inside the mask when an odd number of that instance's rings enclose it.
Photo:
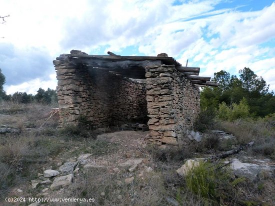
M 185 145 L 199 112 L 199 89 L 174 65 L 146 67 L 148 125 L 152 142 Z

